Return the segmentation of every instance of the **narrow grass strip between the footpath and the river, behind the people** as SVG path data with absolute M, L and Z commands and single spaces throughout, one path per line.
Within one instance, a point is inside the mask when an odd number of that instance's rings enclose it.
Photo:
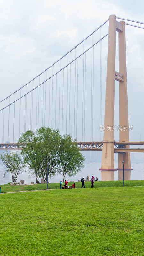
M 71 186 L 73 183 L 68 182 L 68 185 Z M 76 188 L 81 188 L 82 182 L 75 182 Z M 96 181 L 94 187 L 122 187 L 123 181 Z M 144 186 L 144 180 L 124 180 L 124 186 Z M 2 193 L 4 192 L 16 192 L 16 191 L 26 191 L 26 190 L 42 190 L 46 189 L 47 184 L 37 184 L 37 185 L 24 185 L 24 186 L 11 186 L 1 185 Z M 91 188 L 91 182 L 85 182 L 86 188 Z M 48 189 L 59 189 L 60 183 L 50 183 L 48 184 Z

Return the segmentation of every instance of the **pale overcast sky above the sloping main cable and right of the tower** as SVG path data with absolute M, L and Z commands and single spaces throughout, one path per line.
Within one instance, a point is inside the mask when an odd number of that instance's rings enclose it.
M 48 68 L 109 15 L 144 22 L 143 10 L 142 0 L 0 0 L 0 100 Z M 139 141 L 140 136 L 144 140 L 143 46 L 144 30 L 126 26 L 131 141 Z M 102 100 L 104 104 L 105 92 Z

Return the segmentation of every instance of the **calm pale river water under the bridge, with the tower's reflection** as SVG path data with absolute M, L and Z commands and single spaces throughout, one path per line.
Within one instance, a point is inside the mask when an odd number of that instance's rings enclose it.
M 95 177 L 98 177 L 98 180 L 122 180 L 122 171 L 99 171 L 99 168 L 101 166 L 101 162 L 85 162 L 84 168 L 75 176 L 68 177 L 66 176 L 65 179 L 68 181 L 78 181 L 82 177 L 84 179 L 89 176 L 90 178 L 92 175 Z M 115 168 L 117 168 L 118 163 L 115 163 Z M 124 180 L 143 180 L 144 178 L 144 162 L 143 161 L 131 161 L 131 167 L 133 168 L 133 171 L 124 171 Z M 8 182 L 12 181 L 11 173 L 7 173 L 5 178 L 2 179 L 4 176 L 3 166 L 1 164 L 0 166 L 0 184 L 7 184 Z M 2 180 L 1 180 L 2 179 Z M 21 173 L 17 179 L 17 181 L 24 180 L 24 183 L 31 183 L 31 181 L 36 182 L 36 178 L 34 175 L 29 175 L 29 171 Z M 53 182 L 60 182 L 60 180 L 63 180 L 62 175 L 57 175 L 53 179 L 49 179 L 50 183 Z

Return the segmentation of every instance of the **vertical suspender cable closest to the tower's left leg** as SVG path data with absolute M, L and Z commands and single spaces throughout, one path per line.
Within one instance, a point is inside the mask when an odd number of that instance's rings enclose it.
M 101 38 L 101 28 L 100 28 L 100 38 Z M 102 123 L 101 112 L 102 112 L 102 40 L 100 41 L 100 125 Z M 100 141 L 101 141 L 101 131 L 100 131 Z

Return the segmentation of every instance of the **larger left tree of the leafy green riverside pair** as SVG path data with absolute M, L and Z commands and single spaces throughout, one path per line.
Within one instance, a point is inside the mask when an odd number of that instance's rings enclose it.
M 36 182 L 40 178 L 47 179 L 47 163 L 49 162 L 49 177 L 53 177 L 59 171 L 59 147 L 61 136 L 58 130 L 41 127 L 33 132 L 24 132 L 18 140 L 20 144 L 26 144 L 22 149 L 25 163 L 36 176 Z

